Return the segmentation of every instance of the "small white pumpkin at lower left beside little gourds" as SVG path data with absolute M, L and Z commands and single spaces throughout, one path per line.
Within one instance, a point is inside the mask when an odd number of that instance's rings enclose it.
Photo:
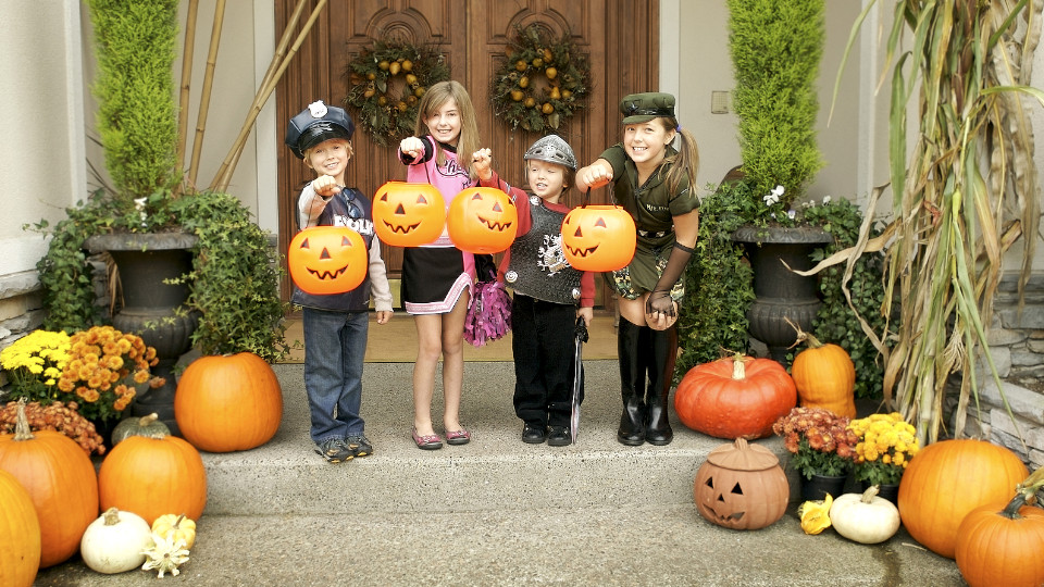
M 140 515 L 109 508 L 84 530 L 79 554 L 99 573 L 123 573 L 141 566 L 152 546 L 152 529 Z

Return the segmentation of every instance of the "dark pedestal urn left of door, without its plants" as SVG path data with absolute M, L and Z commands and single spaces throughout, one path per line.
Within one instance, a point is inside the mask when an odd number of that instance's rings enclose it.
M 184 233 L 142 233 L 98 235 L 85 243 L 91 253 L 108 252 L 116 265 L 123 304 L 112 317 L 113 327 L 136 334 L 156 348 L 159 363 L 151 373 L 166 379 L 163 387 L 146 389 L 135 397 L 132 415 L 156 412 L 175 435 L 174 365 L 191 348 L 199 316 L 184 307 L 188 286 L 164 282 L 191 271 L 196 240 L 196 236 Z

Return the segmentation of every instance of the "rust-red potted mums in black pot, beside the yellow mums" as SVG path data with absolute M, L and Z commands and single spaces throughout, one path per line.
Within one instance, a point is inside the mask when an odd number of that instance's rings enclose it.
M 840 496 L 844 490 L 858 441 L 849 422 L 821 408 L 794 408 L 772 425 L 792 454 L 790 464 L 800 476 L 803 499 Z

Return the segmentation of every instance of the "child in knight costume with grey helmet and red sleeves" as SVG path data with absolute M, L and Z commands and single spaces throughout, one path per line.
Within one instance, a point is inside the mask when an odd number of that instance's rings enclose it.
M 474 164 L 480 185 L 504 190 L 519 209 L 518 236 L 500 263 L 500 276 L 514 289 L 511 350 L 522 441 L 562 447 L 571 442 L 574 324 L 577 317 L 591 324 L 595 279 L 570 266 L 562 253 L 562 220 L 570 211 L 562 198 L 576 172 L 573 150 L 549 135 L 522 159 L 532 193 L 500 179 L 487 149 L 475 153 Z

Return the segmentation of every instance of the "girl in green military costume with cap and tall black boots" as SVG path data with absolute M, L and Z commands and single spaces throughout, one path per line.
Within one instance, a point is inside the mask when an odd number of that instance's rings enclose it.
M 634 259 L 606 274 L 620 308 L 623 414 L 617 439 L 630 446 L 667 445 L 673 439 L 668 395 L 678 354 L 681 277 L 699 232 L 699 200 L 692 189 L 699 153 L 695 138 L 678 124 L 670 93 L 627 96 L 620 111 L 623 140 L 581 168 L 576 187 L 586 191 L 612 182 L 617 203 L 637 229 Z

